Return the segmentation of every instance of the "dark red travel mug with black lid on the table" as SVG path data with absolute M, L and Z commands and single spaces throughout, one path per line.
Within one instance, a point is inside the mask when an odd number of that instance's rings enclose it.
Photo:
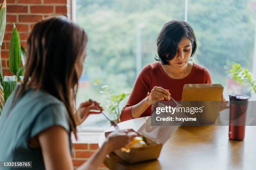
M 230 109 L 228 138 L 231 140 L 244 139 L 248 98 L 247 95 L 229 95 Z

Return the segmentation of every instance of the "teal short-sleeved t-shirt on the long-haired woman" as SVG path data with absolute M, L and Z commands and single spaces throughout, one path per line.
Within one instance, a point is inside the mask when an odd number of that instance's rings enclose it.
M 53 125 L 67 130 L 72 152 L 68 114 L 63 102 L 43 90 L 33 89 L 27 89 L 11 108 L 13 100 L 14 92 L 0 117 L 0 161 L 32 161 L 29 169 L 45 169 L 41 149 L 31 148 L 28 140 Z

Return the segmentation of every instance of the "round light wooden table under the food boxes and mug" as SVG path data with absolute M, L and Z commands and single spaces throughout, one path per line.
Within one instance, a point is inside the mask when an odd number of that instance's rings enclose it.
M 118 124 L 138 130 L 146 117 Z M 114 130 L 113 127 L 106 131 Z M 99 146 L 105 140 L 100 136 Z M 243 141 L 228 139 L 228 126 L 181 126 L 164 144 L 158 160 L 127 164 L 110 153 L 104 164 L 110 170 L 253 170 L 256 169 L 256 126 L 246 126 Z

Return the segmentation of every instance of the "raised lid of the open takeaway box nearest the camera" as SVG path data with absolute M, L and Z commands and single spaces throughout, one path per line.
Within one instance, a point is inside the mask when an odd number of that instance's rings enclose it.
M 180 124 L 177 124 L 177 126 L 151 126 L 151 117 L 148 117 L 138 130 L 138 133 L 141 133 L 146 138 L 150 138 L 155 143 L 164 144 L 179 126 Z

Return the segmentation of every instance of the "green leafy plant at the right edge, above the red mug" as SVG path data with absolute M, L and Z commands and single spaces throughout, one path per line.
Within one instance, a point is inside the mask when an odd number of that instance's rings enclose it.
M 232 69 L 229 70 L 233 73 L 232 78 L 241 85 L 251 85 L 251 93 L 256 93 L 256 80 L 253 78 L 251 72 L 247 68 L 242 68 L 241 64 L 233 63 Z

